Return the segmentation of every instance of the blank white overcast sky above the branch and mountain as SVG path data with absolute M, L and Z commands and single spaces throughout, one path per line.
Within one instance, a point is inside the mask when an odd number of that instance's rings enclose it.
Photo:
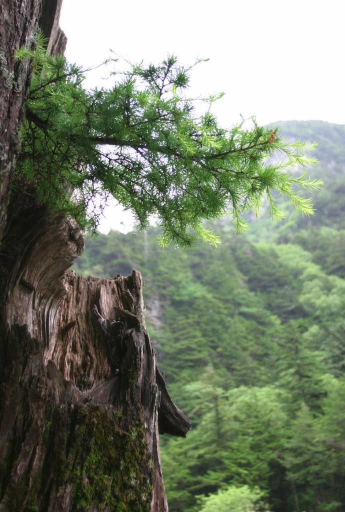
M 209 58 L 190 95 L 224 91 L 226 126 L 240 114 L 345 124 L 344 14 L 342 0 L 64 0 L 60 26 L 67 58 L 84 66 L 110 49 L 133 62 Z

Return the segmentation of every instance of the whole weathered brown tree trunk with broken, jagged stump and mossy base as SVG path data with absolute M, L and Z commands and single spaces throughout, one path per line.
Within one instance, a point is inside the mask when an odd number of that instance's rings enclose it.
M 40 17 L 52 53 L 64 46 L 59 8 L 47 1 Z M 40 9 L 0 1 L 0 511 L 163 512 L 158 432 L 190 424 L 156 368 L 141 274 L 77 276 L 74 222 L 28 187 L 8 194 L 30 77 L 13 49 L 31 44 Z

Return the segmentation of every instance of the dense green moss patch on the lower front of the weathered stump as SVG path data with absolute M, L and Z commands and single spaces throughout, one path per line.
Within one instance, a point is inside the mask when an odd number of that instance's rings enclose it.
M 69 453 L 61 465 L 73 485 L 73 512 L 148 512 L 152 497 L 151 457 L 138 421 L 124 431 L 116 412 L 81 407 L 76 412 Z

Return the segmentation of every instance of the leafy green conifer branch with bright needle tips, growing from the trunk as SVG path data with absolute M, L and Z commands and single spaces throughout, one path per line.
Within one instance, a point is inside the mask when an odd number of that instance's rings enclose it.
M 302 153 L 311 146 L 289 144 L 255 121 L 251 130 L 244 123 L 223 129 L 210 111 L 221 95 L 186 98 L 191 67 L 176 57 L 114 72 L 113 88 L 92 91 L 82 87 L 81 68 L 46 55 L 41 44 L 17 58 L 33 59 L 34 68 L 17 173 L 35 184 L 39 200 L 82 228 L 96 230 L 110 196 L 134 211 L 141 228 L 155 215 L 163 245 L 188 247 L 200 237 L 217 244 L 204 219 L 230 212 L 243 230 L 244 212 L 257 211 L 266 197 L 272 215 L 281 217 L 274 190 L 313 213 L 299 191 L 321 182 L 286 174 L 290 165 L 314 161 Z M 267 160 L 277 152 L 281 162 Z

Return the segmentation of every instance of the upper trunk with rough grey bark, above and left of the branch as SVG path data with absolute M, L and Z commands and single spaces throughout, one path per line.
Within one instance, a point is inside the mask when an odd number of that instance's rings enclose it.
M 0 1 L 0 241 L 31 76 L 31 63 L 16 61 L 14 51 L 33 47 L 40 26 L 49 37 L 50 53 L 63 53 L 66 37 L 58 26 L 61 3 L 62 0 Z

